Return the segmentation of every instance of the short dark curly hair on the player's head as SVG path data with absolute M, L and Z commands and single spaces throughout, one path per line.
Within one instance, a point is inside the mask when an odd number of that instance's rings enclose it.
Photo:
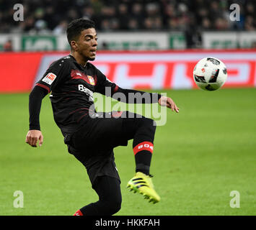
M 76 40 L 79 37 L 82 30 L 89 28 L 95 28 L 94 22 L 89 19 L 80 18 L 74 19 L 72 22 L 70 22 L 68 28 L 66 29 L 69 45 L 71 44 L 72 40 Z

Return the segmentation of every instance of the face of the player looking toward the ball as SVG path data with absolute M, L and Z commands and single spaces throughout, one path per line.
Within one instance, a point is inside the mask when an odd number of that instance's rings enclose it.
M 85 60 L 94 60 L 97 50 L 97 32 L 94 28 L 84 29 L 76 42 L 77 52 Z

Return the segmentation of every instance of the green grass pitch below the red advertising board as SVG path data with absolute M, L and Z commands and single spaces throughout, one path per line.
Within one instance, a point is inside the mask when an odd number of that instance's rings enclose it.
M 123 203 L 116 215 L 255 215 L 256 89 L 163 91 L 180 107 L 156 128 L 151 174 L 162 198 L 152 204 L 128 191 L 132 142 L 115 149 Z M 42 147 L 25 144 L 28 93 L 0 95 L 0 215 L 72 215 L 97 201 L 83 165 L 67 152 L 43 100 Z M 14 208 L 21 190 L 23 208 Z M 231 191 L 240 208 L 231 208 Z

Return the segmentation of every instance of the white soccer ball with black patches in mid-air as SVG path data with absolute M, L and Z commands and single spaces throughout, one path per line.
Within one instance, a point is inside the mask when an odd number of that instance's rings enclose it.
M 226 65 L 216 57 L 205 57 L 195 65 L 193 77 L 199 88 L 216 91 L 226 81 Z

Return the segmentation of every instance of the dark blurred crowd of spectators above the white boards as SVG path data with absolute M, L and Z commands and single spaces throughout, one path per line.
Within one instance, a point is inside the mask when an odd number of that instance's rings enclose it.
M 187 45 L 206 30 L 256 30 L 255 0 L 21 0 L 24 21 L 13 19 L 17 0 L 0 0 L 0 33 L 30 35 L 66 32 L 79 17 L 92 19 L 98 31 L 182 31 Z M 239 21 L 229 18 L 239 4 Z M 8 46 L 8 44 L 7 44 Z

